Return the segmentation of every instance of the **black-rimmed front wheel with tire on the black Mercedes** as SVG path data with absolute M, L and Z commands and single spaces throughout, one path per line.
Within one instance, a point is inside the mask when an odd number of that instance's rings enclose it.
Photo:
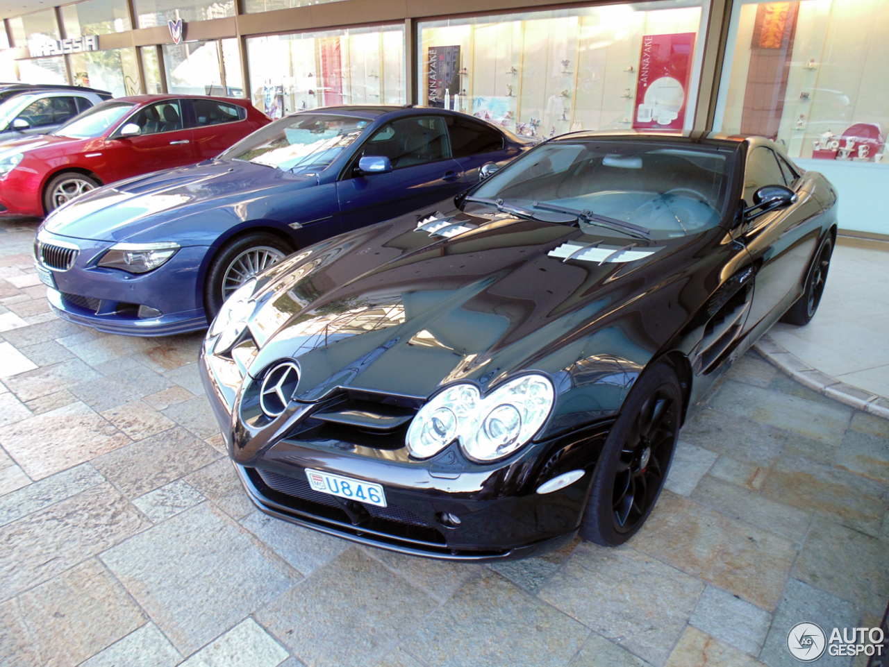
M 645 370 L 605 441 L 581 520 L 581 537 L 617 546 L 642 528 L 667 479 L 681 414 L 676 373 L 662 363 Z

